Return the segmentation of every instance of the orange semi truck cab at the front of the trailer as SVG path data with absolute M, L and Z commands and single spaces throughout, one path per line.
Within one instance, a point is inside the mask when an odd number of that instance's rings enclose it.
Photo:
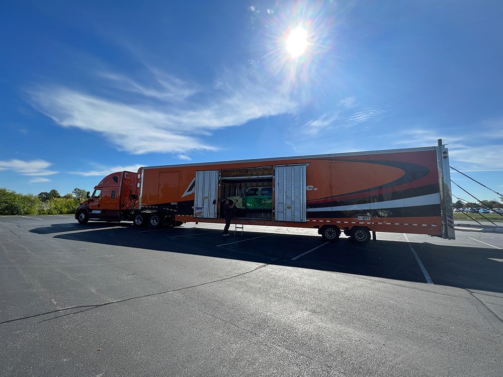
M 131 220 L 138 207 L 136 180 L 136 173 L 131 171 L 107 175 L 95 186 L 93 194 L 88 193 L 88 198 L 78 206 L 75 219 L 80 224 L 89 220 Z

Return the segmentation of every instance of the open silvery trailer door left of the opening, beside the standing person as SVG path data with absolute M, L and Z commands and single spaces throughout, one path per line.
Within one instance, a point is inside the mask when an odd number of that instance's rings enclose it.
M 196 171 L 194 217 L 216 219 L 218 208 L 218 170 Z

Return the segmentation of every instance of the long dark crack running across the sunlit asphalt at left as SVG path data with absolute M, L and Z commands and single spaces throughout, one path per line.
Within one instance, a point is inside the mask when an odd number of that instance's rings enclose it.
M 162 292 L 155 292 L 155 293 L 150 293 L 148 295 L 135 296 L 135 297 L 130 297 L 130 298 L 123 299 L 123 300 L 109 301 L 109 302 L 102 303 L 102 304 L 77 305 L 77 306 L 72 306 L 72 307 L 68 307 L 68 308 L 62 308 L 62 309 L 52 310 L 50 312 L 39 313 L 39 314 L 34 314 L 34 315 L 31 315 L 31 316 L 27 316 L 27 317 L 14 318 L 14 319 L 11 319 L 11 320 L 3 321 L 3 322 L 0 322 L 0 325 L 4 325 L 6 323 L 11 323 L 11 322 L 16 322 L 16 321 L 22 321 L 22 320 L 30 319 L 30 318 L 41 317 L 41 316 L 45 316 L 45 315 L 48 315 L 48 314 L 56 314 L 56 313 L 64 313 L 66 311 L 72 311 L 71 313 L 61 314 L 61 315 L 57 315 L 57 316 L 52 317 L 52 318 L 48 318 L 48 319 L 44 319 L 44 320 L 38 321 L 38 323 L 42 323 L 42 322 L 52 321 L 54 319 L 58 319 L 58 318 L 61 318 L 61 317 L 66 317 L 66 316 L 73 315 L 73 314 L 87 312 L 88 310 L 102 308 L 102 307 L 107 306 L 107 305 L 119 304 L 119 303 L 124 303 L 124 302 L 127 302 L 127 301 L 143 299 L 143 298 L 146 298 L 146 297 L 159 296 L 159 295 L 165 295 L 167 293 L 173 293 L 173 292 L 178 292 L 178 291 L 189 290 L 189 289 L 192 289 L 192 288 L 202 287 L 202 286 L 206 286 L 206 285 L 209 285 L 209 284 L 214 284 L 216 282 L 225 281 L 225 280 L 233 279 L 235 277 L 243 276 L 243 275 L 246 275 L 248 273 L 255 272 L 255 271 L 257 271 L 257 270 L 259 270 L 261 268 L 264 268 L 264 267 L 268 266 L 269 264 L 270 263 L 261 264 L 261 265 L 255 267 L 255 268 L 253 268 L 253 269 L 250 269 L 250 270 L 245 271 L 245 272 L 238 273 L 236 275 L 223 277 L 221 279 L 206 281 L 206 282 L 203 282 L 203 283 L 200 283 L 200 284 L 195 284 L 193 286 L 176 288 L 176 289 L 166 290 L 166 291 L 162 291 Z M 77 311 L 73 311 L 73 310 L 77 310 Z

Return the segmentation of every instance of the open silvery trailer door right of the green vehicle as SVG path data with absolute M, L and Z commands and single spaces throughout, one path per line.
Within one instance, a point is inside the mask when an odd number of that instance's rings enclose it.
M 274 220 L 306 222 L 306 165 L 276 166 Z

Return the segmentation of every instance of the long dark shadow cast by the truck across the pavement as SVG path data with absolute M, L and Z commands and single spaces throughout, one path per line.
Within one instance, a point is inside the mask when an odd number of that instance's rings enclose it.
M 338 242 L 325 244 L 321 236 L 246 231 L 242 236 L 222 237 L 220 229 L 181 227 L 150 230 L 123 223 L 54 224 L 32 229 L 31 232 L 60 233 L 54 237 L 137 248 L 142 249 L 141 252 L 184 253 L 426 284 L 410 245 L 420 255 L 435 284 L 503 293 L 503 285 L 498 284 L 503 251 L 460 247 L 455 241 L 451 241 L 452 246 L 383 240 L 357 245 L 341 237 Z

